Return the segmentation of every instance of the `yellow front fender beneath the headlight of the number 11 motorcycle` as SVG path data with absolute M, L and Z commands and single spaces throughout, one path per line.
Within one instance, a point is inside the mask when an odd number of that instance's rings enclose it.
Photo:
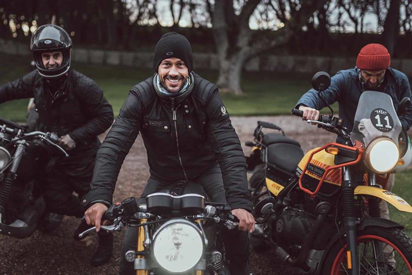
M 354 195 L 369 195 L 385 200 L 400 211 L 412 213 L 412 207 L 401 197 L 390 191 L 372 186 L 357 186 Z

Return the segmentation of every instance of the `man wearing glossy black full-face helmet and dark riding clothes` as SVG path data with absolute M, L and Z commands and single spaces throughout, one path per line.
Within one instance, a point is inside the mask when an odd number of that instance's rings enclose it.
M 82 217 L 84 206 L 73 191 L 88 192 L 94 158 L 100 142 L 97 135 L 110 127 L 113 110 L 102 90 L 87 76 L 70 69 L 72 41 L 55 25 L 39 27 L 30 49 L 37 70 L 0 86 L 0 103 L 34 98 L 40 130 L 55 132 L 69 158 L 50 160 L 44 177 L 43 197 L 50 212 Z M 77 231 L 83 231 L 83 222 Z M 75 234 L 75 239 L 78 239 Z M 101 265 L 111 255 L 113 236 L 99 234 L 99 248 L 91 263 Z

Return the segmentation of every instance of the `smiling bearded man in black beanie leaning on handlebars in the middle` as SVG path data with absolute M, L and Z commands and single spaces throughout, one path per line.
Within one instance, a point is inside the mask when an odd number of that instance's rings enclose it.
M 132 87 L 101 145 L 92 190 L 84 203 L 88 224 L 100 220 L 112 204 L 113 190 L 127 152 L 138 132 L 147 151 L 150 178 L 141 195 L 163 189 L 202 186 L 209 199 L 228 203 L 240 230 L 224 231 L 227 259 L 234 275 L 249 275 L 249 239 L 254 230 L 246 160 L 218 88 L 195 74 L 189 41 L 167 33 L 156 44 L 155 74 Z M 187 190 L 186 190 L 187 191 Z M 133 274 L 124 253 L 136 248 L 137 228 L 129 227 L 122 247 L 121 274 Z

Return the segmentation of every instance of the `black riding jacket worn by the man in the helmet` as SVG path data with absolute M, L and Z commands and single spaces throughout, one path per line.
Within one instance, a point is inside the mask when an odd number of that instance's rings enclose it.
M 97 135 L 113 122 L 112 106 L 102 90 L 87 76 L 70 70 L 58 91 L 50 91 L 36 71 L 0 86 L 0 103 L 20 98 L 35 98 L 41 129 L 59 136 L 69 134 L 76 148 L 69 155 L 82 154 L 96 147 Z

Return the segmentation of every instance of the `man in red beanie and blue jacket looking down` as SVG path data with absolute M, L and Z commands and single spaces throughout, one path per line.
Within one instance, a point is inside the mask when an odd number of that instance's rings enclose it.
M 390 55 L 387 49 L 380 44 L 368 44 L 360 50 L 355 68 L 339 71 L 332 77 L 329 88 L 322 91 L 322 96 L 328 104 L 339 102 L 339 116 L 343 118 L 345 127 L 353 128 L 359 97 L 364 90 L 390 95 L 396 111 L 403 97 L 412 98 L 406 75 L 389 66 Z M 311 89 L 299 99 L 295 108 L 303 111 L 303 119 L 316 120 L 319 117 L 318 110 L 325 106 L 317 91 Z M 409 107 L 406 114 L 400 115 L 399 119 L 403 129 L 408 130 L 412 125 L 412 107 Z M 393 183 L 392 174 L 386 189 L 392 190 Z M 389 219 L 389 210 L 383 200 L 380 208 L 381 217 Z

